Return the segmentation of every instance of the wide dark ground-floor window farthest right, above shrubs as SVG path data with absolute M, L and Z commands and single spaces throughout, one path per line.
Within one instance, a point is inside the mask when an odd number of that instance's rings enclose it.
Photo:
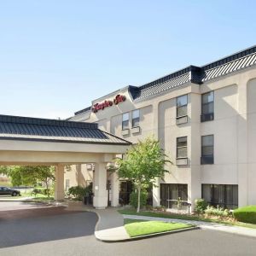
M 202 184 L 201 196 L 213 207 L 238 207 L 238 185 Z

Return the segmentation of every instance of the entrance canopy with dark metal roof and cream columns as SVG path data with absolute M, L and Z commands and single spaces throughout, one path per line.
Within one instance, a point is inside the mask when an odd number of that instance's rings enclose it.
M 64 166 L 95 163 L 94 206 L 107 207 L 106 166 L 130 145 L 97 124 L 0 115 L 0 165 L 55 166 L 55 200 L 64 199 Z

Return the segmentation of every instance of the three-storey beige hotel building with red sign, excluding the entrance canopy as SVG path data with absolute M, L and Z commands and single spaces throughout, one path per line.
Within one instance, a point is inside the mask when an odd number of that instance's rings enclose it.
M 113 91 L 69 120 L 96 123 L 134 144 L 152 135 L 160 141 L 173 165 L 153 189 L 154 206 L 173 207 L 178 197 L 192 207 L 197 198 L 227 208 L 255 205 L 255 64 L 253 46 L 202 67 L 185 67 L 148 84 Z M 80 184 L 93 180 L 92 166 L 77 165 L 77 172 L 66 173 L 67 189 L 74 179 Z M 124 200 L 131 184 L 111 181 L 108 188 L 119 183 Z

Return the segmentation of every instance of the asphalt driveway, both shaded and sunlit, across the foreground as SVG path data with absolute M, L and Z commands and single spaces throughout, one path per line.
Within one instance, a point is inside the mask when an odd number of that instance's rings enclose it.
M 63 207 L 23 209 L 0 219 L 1 256 L 37 255 L 255 255 L 256 240 L 213 230 L 193 230 L 141 241 L 97 241 L 94 212 Z M 36 211 L 36 212 L 35 212 Z M 1 213 L 1 212 L 0 212 Z

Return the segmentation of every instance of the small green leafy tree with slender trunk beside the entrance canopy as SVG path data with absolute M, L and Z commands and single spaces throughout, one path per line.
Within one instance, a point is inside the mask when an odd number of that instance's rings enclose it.
M 137 189 L 137 212 L 140 211 L 140 198 L 143 186 L 153 183 L 156 186 L 156 178 L 163 178 L 166 172 L 168 160 L 159 141 L 148 137 L 136 146 L 132 146 L 123 159 L 117 159 L 116 165 L 120 178 L 131 180 Z

